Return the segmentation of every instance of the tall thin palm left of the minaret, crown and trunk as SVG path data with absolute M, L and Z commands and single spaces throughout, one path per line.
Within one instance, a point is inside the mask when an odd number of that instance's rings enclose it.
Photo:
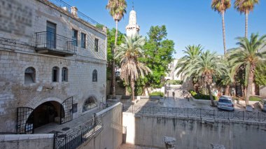
M 118 38 L 118 22 L 124 17 L 127 8 L 127 2 L 125 0 L 109 0 L 106 5 L 106 9 L 109 9 L 110 15 L 113 17 L 113 20 L 116 22 L 116 38 L 115 38 L 115 47 L 112 48 L 112 54 L 116 52 L 117 38 Z M 113 99 L 116 99 L 116 62 L 113 59 L 112 62 L 112 87 L 113 87 Z

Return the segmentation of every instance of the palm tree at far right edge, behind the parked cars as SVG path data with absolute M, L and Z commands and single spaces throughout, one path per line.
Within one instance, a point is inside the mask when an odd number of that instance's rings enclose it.
M 232 76 L 240 69 L 241 66 L 246 68 L 246 80 L 248 87 L 246 90 L 246 105 L 248 105 L 249 97 L 252 94 L 252 85 L 254 80 L 255 68 L 258 64 L 266 62 L 266 51 L 262 48 L 266 46 L 266 35 L 259 38 L 258 34 L 251 34 L 251 39 L 239 37 L 237 45 L 239 48 L 228 52 L 228 59 L 232 65 Z

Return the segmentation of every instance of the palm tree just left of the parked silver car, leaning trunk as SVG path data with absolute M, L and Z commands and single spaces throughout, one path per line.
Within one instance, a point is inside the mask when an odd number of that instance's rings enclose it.
M 223 63 L 223 57 L 216 55 L 215 52 L 211 53 L 207 50 L 206 52 L 202 52 L 200 56 L 197 56 L 194 64 L 188 66 L 188 68 L 183 71 L 183 74 L 184 80 L 195 74 L 201 77 L 207 85 L 211 104 L 215 106 L 214 98 L 211 93 L 211 83 L 213 82 L 214 76 L 222 76 L 227 73 L 226 70 L 227 66 Z

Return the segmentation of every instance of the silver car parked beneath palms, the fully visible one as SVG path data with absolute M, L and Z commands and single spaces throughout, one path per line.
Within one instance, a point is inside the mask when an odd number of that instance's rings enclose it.
M 232 101 L 232 98 L 229 96 L 221 96 L 218 100 L 217 107 L 219 109 L 227 110 L 227 111 L 235 111 L 235 107 Z

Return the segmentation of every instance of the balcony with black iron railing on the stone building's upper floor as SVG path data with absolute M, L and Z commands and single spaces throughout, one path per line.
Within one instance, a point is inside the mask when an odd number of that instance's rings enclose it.
M 49 31 L 36 33 L 36 47 L 38 53 L 71 57 L 76 54 L 76 41 Z

